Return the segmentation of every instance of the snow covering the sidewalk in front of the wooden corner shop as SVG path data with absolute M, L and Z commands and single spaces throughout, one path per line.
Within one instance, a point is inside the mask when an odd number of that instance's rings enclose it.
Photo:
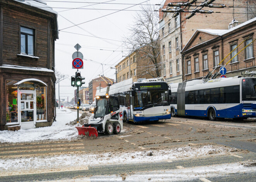
M 58 139 L 69 140 L 76 137 L 78 134 L 77 129 L 74 126 L 66 125 L 66 123 L 76 119 L 77 112 L 63 107 L 63 109 L 56 108 L 56 114 L 56 122 L 53 122 L 52 126 L 49 127 L 20 129 L 19 131 L 0 131 L 0 143 Z

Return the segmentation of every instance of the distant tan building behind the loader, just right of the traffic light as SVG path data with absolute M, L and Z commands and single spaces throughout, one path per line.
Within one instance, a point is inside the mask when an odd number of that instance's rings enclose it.
M 94 101 L 94 97 L 96 94 L 97 87 L 105 88 L 107 87 L 107 83 L 104 81 L 106 80 L 108 83 L 112 85 L 111 82 L 114 82 L 114 79 L 107 78 L 102 76 L 102 78 L 95 78 L 89 82 L 88 90 L 89 90 L 89 103 L 91 104 Z M 111 80 L 111 81 L 110 81 Z

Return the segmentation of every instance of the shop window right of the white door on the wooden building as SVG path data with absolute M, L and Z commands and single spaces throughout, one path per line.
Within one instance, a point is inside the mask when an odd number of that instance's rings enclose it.
M 46 87 L 36 86 L 36 117 L 37 120 L 46 120 Z

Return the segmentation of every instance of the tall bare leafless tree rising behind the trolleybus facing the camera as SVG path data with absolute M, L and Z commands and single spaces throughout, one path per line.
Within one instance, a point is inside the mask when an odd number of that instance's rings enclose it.
M 143 11 L 134 17 L 131 35 L 125 38 L 125 45 L 131 52 L 136 51 L 137 75 L 148 74 L 160 77 L 159 15 L 152 6 L 141 7 Z

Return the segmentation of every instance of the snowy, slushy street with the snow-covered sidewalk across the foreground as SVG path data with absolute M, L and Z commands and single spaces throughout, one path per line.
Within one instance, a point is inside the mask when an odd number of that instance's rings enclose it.
M 94 139 L 80 137 L 74 126 L 66 125 L 76 114 L 57 109 L 57 121 L 50 127 L 1 131 L 0 181 L 255 178 L 254 121 L 174 117 L 163 123 L 125 123 L 121 134 L 100 134 Z

